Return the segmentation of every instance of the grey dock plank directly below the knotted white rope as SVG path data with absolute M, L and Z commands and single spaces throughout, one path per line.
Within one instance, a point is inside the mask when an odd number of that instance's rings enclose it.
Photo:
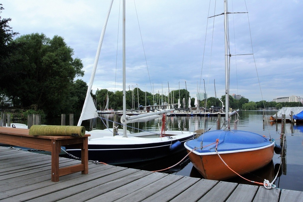
M 279 201 L 281 190 L 279 188 L 271 188 L 266 189 L 265 187 L 261 186 L 258 189 L 258 192 L 253 200 L 253 202 L 257 201 Z

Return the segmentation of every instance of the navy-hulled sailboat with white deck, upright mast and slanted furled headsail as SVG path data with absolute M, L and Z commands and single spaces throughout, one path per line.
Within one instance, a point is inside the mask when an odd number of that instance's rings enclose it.
M 97 110 L 93 104 L 92 97 L 90 95 L 92 89 L 92 83 L 95 77 L 96 67 L 100 50 L 102 46 L 103 37 L 105 34 L 105 28 L 108 20 L 108 16 L 112 7 L 110 3 L 105 25 L 103 26 L 98 51 L 96 54 L 93 71 L 88 85 L 88 91 L 86 94 L 85 103 L 82 109 L 78 126 L 81 125 L 82 120 L 98 117 Z M 92 130 L 87 132 L 91 134 L 88 139 L 88 158 L 94 161 L 101 161 L 111 165 L 121 165 L 134 162 L 144 162 L 153 159 L 159 159 L 167 157 L 180 151 L 184 151 L 185 148 L 182 143 L 195 137 L 194 132 L 175 130 L 166 131 L 165 114 L 170 114 L 175 109 L 164 109 L 152 113 L 140 114 L 135 116 L 126 115 L 126 99 L 125 99 L 125 0 L 123 1 L 123 115 L 121 117 L 121 123 L 123 124 L 123 130 L 118 129 L 116 135 L 113 131 L 108 130 Z M 155 118 L 162 117 L 162 127 L 158 131 L 148 131 L 142 133 L 130 133 L 126 129 L 127 123 L 133 123 L 135 121 L 148 121 Z M 81 157 L 81 150 L 66 147 L 66 151 L 74 156 Z

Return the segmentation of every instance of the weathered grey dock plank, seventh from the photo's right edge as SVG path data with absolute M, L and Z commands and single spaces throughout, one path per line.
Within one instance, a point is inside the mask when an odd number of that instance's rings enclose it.
M 137 191 L 134 191 L 130 194 L 127 194 L 126 196 L 115 200 L 116 202 L 119 201 L 142 201 L 149 196 L 152 196 L 161 190 L 165 189 L 169 185 L 176 183 L 177 181 L 180 181 L 183 178 L 183 176 L 176 176 L 176 175 L 166 175 L 164 178 L 159 179 L 158 181 L 155 181 Z M 151 200 L 154 201 L 154 200 Z M 157 200 L 157 201 L 163 201 L 163 200 Z

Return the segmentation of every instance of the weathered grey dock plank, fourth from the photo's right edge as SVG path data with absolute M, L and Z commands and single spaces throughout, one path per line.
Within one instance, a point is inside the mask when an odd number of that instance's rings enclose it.
M 198 201 L 225 201 L 237 187 L 237 183 L 220 181 Z

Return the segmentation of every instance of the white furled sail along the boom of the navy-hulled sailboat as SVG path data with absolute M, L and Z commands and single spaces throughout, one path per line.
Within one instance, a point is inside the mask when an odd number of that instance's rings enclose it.
M 163 109 L 160 111 L 147 113 L 147 114 L 139 114 L 135 116 L 126 116 L 126 123 L 135 123 L 135 122 L 146 122 L 149 120 L 154 120 L 156 118 L 161 117 L 161 114 L 171 114 L 172 111 L 175 111 L 175 109 Z M 123 123 L 123 119 L 121 117 L 121 123 Z

